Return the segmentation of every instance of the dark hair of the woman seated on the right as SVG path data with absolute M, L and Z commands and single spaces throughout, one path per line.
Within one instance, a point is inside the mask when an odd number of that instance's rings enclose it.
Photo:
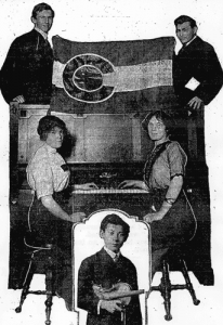
M 175 120 L 173 116 L 166 113 L 165 110 L 153 110 L 146 115 L 146 117 L 142 121 L 142 127 L 145 131 L 148 130 L 148 122 L 153 117 L 156 117 L 156 119 L 161 120 L 163 122 L 163 125 L 166 126 L 167 134 L 171 133 L 171 130 L 175 126 Z

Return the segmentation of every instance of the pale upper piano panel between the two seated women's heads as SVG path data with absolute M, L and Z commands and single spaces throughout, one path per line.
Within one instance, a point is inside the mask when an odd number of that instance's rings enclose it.
M 52 112 L 52 114 L 54 114 Z M 142 161 L 140 118 L 123 114 L 63 114 L 62 118 L 75 140 L 68 162 L 131 162 Z

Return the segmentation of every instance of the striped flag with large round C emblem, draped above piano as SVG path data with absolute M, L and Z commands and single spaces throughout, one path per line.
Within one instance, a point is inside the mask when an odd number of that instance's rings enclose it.
M 54 36 L 51 109 L 131 114 L 174 109 L 173 37 L 76 42 Z

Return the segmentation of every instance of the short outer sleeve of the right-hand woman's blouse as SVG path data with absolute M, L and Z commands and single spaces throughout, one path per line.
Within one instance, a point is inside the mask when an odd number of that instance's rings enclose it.
M 170 179 L 175 176 L 184 176 L 187 157 L 181 145 L 178 142 L 170 143 L 167 155 L 170 166 Z

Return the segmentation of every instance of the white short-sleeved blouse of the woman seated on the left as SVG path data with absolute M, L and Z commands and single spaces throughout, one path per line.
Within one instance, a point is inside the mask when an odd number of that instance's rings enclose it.
M 47 143 L 37 150 L 26 169 L 28 184 L 36 191 L 37 198 L 67 187 L 70 173 L 63 169 L 65 164 L 56 150 Z

